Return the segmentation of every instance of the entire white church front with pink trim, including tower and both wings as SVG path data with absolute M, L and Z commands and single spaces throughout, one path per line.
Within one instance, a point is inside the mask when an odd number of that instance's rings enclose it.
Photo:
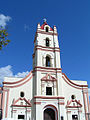
M 88 85 L 62 73 L 57 28 L 37 25 L 33 70 L 25 78 L 5 77 L 2 118 L 89 120 Z

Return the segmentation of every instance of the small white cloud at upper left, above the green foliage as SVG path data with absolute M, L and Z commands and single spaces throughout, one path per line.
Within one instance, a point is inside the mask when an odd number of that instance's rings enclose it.
M 11 20 L 10 16 L 5 16 L 4 14 L 0 14 L 0 27 L 5 28 L 7 22 Z

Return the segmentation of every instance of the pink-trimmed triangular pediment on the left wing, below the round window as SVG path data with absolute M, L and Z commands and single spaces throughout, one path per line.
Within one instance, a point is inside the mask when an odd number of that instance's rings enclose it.
M 17 100 L 13 100 L 12 106 L 15 107 L 31 107 L 30 100 L 26 100 L 26 98 L 18 98 Z

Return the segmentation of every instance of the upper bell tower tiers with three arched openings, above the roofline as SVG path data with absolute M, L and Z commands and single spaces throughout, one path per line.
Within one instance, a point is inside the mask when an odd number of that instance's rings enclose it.
M 58 44 L 58 34 L 56 26 L 53 29 L 46 23 L 42 26 L 40 24 L 37 25 L 37 32 L 34 40 L 34 53 L 37 51 L 36 59 L 33 59 L 34 66 L 40 67 L 53 67 L 53 68 L 61 68 L 60 65 L 60 49 Z M 48 58 L 45 56 L 45 53 L 49 55 Z M 33 54 L 34 56 L 35 54 Z M 47 66 L 45 63 L 45 59 L 50 59 L 50 66 Z M 53 58 L 52 58 L 53 57 Z M 35 62 L 36 60 L 36 62 Z

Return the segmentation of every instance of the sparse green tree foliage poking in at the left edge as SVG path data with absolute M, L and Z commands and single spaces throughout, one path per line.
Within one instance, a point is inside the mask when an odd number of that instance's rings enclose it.
M 2 50 L 4 46 L 8 45 L 9 42 L 10 40 L 8 40 L 7 30 L 0 29 L 0 50 Z

